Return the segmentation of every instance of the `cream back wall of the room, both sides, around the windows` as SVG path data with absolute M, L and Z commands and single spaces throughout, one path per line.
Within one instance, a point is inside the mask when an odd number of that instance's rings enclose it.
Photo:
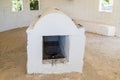
M 29 0 L 23 0 L 24 10 L 19 13 L 11 12 L 11 0 L 0 1 L 0 31 L 28 26 L 33 17 L 40 11 L 29 10 Z M 40 0 L 41 11 L 47 7 L 60 8 L 73 19 L 83 19 L 93 22 L 111 24 L 116 29 L 116 35 L 120 35 L 120 0 L 114 0 L 112 13 L 99 12 L 99 0 Z

